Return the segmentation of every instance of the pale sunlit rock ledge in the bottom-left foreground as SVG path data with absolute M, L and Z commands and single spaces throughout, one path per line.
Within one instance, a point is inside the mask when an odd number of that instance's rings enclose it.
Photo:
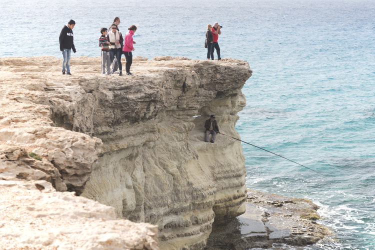
M 45 180 L 0 180 L 0 200 L 1 249 L 159 249 L 157 226 Z

